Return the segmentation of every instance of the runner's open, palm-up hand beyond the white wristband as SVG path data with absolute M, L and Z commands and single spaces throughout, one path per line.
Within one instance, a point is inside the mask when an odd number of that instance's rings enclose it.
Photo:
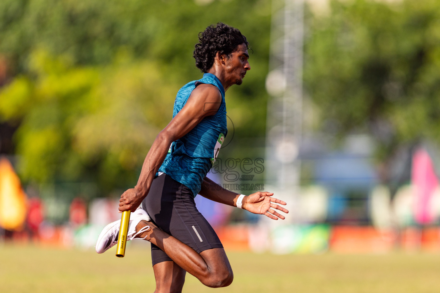
M 286 217 L 277 213 L 275 209 L 280 210 L 283 213 L 289 213 L 289 211 L 274 203 L 279 203 L 284 206 L 286 203 L 282 200 L 271 197 L 272 195 L 274 195 L 272 192 L 255 192 L 251 195 L 245 196 L 243 198 L 242 207 L 244 210 L 248 210 L 251 213 L 266 215 L 274 220 L 278 220 L 278 218 L 284 220 Z

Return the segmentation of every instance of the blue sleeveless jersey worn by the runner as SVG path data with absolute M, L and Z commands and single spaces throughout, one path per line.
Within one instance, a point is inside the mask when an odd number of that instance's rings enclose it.
M 220 108 L 215 115 L 203 118 L 190 132 L 173 141 L 159 168 L 160 172 L 190 188 L 194 196 L 200 192 L 203 178 L 213 166 L 227 134 L 224 88 L 211 73 L 205 73 L 202 79 L 185 84 L 177 92 L 172 117 L 183 108 L 198 83 L 213 84 L 220 90 Z

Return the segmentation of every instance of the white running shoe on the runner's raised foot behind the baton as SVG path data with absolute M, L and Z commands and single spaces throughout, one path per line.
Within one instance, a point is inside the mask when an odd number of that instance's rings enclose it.
M 134 239 L 137 235 L 145 232 L 150 228 L 150 226 L 145 226 L 136 232 L 136 226 L 140 221 L 150 221 L 150 216 L 145 210 L 137 209 L 130 215 L 130 222 L 128 224 L 127 241 Z M 103 253 L 106 252 L 110 247 L 117 244 L 117 237 L 119 235 L 119 229 L 121 228 L 121 220 L 111 222 L 104 227 L 103 231 L 98 236 L 98 241 L 96 242 L 96 252 Z

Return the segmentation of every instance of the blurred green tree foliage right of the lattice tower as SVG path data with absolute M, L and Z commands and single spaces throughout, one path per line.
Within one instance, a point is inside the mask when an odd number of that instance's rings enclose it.
M 385 162 L 440 142 L 439 1 L 332 0 L 308 21 L 304 81 L 327 132 L 369 132 Z

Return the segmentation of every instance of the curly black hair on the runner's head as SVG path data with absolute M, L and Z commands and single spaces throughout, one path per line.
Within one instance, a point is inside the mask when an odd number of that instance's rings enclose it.
M 194 46 L 193 57 L 195 65 L 203 73 L 213 67 L 217 52 L 229 57 L 232 52 L 235 52 L 238 45 L 245 43 L 246 48 L 249 46 L 246 36 L 243 36 L 238 29 L 223 22 L 209 25 L 205 31 L 198 34 L 198 40 L 199 43 Z

